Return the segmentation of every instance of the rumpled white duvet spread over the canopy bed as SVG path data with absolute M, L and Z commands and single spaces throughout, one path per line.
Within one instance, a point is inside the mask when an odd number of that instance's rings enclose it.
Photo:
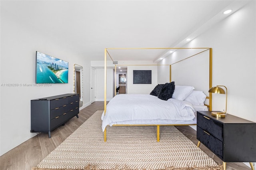
M 192 121 L 195 110 L 191 103 L 153 95 L 120 94 L 111 99 L 102 113 L 102 131 L 107 125 L 164 125 Z

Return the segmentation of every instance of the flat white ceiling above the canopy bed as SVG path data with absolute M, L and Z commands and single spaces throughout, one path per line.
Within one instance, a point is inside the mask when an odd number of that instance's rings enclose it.
M 246 1 L 232 0 L 43 0 L 1 1 L 7 17 L 60 42 L 76 55 L 103 60 L 105 48 L 180 47 Z M 5 13 L 6 14 L 6 13 Z M 1 16 L 4 17 L 4 16 Z M 166 50 L 110 51 L 115 61 L 157 61 Z M 142 53 L 141 53 L 142 52 Z

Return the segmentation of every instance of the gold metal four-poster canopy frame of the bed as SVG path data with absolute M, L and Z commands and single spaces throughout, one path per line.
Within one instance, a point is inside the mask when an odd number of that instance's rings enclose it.
M 208 51 L 209 50 L 209 89 L 212 88 L 212 48 L 105 48 L 105 59 L 104 59 L 104 115 L 106 114 L 106 105 L 107 105 L 107 101 L 106 101 L 106 91 L 107 91 L 107 88 L 106 88 L 106 82 L 107 82 L 107 54 L 109 55 L 109 57 L 111 58 L 111 60 L 113 61 L 114 63 L 114 60 L 112 59 L 112 57 L 110 56 L 109 52 L 108 52 L 108 49 L 202 49 L 203 51 L 199 52 L 199 53 L 196 53 L 194 55 L 191 55 L 190 57 L 193 57 L 193 56 L 196 56 L 200 53 L 203 53 L 205 51 Z M 188 59 L 190 57 L 186 57 L 185 59 Z M 180 61 L 183 61 L 185 59 L 181 59 Z M 175 63 L 172 63 L 170 65 L 170 82 L 171 82 L 171 66 L 173 64 L 176 64 L 180 61 L 177 61 Z M 116 79 L 116 64 L 115 64 L 115 79 Z M 118 66 L 124 66 L 124 65 L 118 65 Z M 125 65 L 125 66 L 128 66 L 128 65 Z M 157 66 L 157 65 L 156 65 Z M 116 81 L 115 81 L 115 85 L 116 85 Z M 116 95 L 116 92 L 115 92 L 115 95 Z M 205 104 L 208 109 L 211 111 L 212 110 L 212 93 L 209 93 L 209 96 L 206 97 L 206 99 L 209 100 L 209 104 Z M 160 126 L 182 126 L 182 125 L 196 125 L 196 124 L 178 124 L 178 125 L 112 125 L 112 126 L 156 126 L 157 128 L 157 134 L 156 134 L 156 138 L 157 138 L 157 141 L 159 142 L 160 141 Z M 106 131 L 106 128 L 104 130 L 104 142 L 107 141 L 107 131 Z

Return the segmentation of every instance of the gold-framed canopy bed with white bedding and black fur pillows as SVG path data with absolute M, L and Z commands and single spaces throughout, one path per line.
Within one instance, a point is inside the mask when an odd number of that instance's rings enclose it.
M 168 64 L 170 77 L 169 83 L 158 84 L 151 91 L 150 94 L 119 94 L 113 97 L 108 103 L 106 101 L 106 80 L 107 80 L 107 55 L 115 64 L 115 71 L 118 65 L 110 56 L 108 49 L 165 49 L 165 50 L 193 50 L 196 49 L 196 53 L 190 54 L 188 57 Z M 204 53 L 204 54 L 203 54 Z M 203 55 L 202 55 L 203 54 Z M 200 63 L 200 65 L 207 65 L 206 72 L 207 77 L 201 75 L 182 73 L 178 71 L 178 74 L 174 75 L 172 71 L 177 71 L 178 65 L 188 59 L 196 56 L 207 56 L 207 63 Z M 160 67 L 161 65 L 155 65 Z M 190 64 L 191 65 L 191 64 Z M 193 63 L 192 68 L 188 72 L 193 72 L 194 68 L 201 67 Z M 127 66 L 127 65 L 126 65 Z M 174 69 L 172 70 L 172 67 Z M 180 66 L 178 66 L 180 67 Z M 185 66 L 187 67 L 187 66 Z M 104 112 L 102 113 L 102 131 L 104 131 L 104 141 L 106 142 L 106 127 L 109 126 L 156 126 L 157 141 L 160 141 L 160 126 L 170 125 L 196 125 L 196 111 L 207 111 L 212 109 L 212 95 L 211 93 L 203 91 L 202 89 L 210 89 L 212 87 L 212 48 L 106 48 L 105 49 L 105 82 L 104 82 Z M 184 74 L 184 75 L 182 75 Z M 116 75 L 116 74 L 115 74 Z M 186 76 L 184 81 L 180 81 L 176 85 L 175 77 L 178 75 Z M 205 75 L 205 74 L 204 74 Z M 174 80 L 172 81 L 172 77 Z M 207 81 L 201 83 L 198 77 Z M 182 84 L 181 84 L 182 83 Z M 184 84 L 183 84 L 184 83 Z M 204 87 L 200 87 L 203 84 Z M 160 87 L 161 86 L 161 87 Z M 196 88 L 195 88 L 196 87 Z M 205 95 L 206 94 L 206 95 Z M 202 99 L 204 98 L 204 99 Z M 199 101 L 200 100 L 200 101 Z M 202 101 L 203 100 L 203 101 Z

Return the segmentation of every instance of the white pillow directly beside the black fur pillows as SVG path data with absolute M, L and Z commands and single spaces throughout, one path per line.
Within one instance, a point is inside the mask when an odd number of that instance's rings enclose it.
M 172 98 L 177 100 L 184 100 L 192 93 L 195 88 L 192 86 L 175 85 L 175 89 Z

